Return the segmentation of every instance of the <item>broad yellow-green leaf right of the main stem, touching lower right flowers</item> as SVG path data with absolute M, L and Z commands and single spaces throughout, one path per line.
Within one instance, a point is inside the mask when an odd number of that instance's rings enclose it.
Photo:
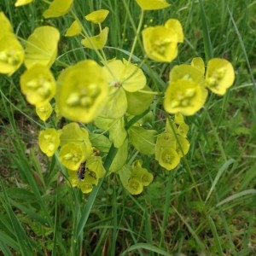
M 154 154 L 154 136 L 156 131 L 132 126 L 128 130 L 129 141 L 140 153 Z

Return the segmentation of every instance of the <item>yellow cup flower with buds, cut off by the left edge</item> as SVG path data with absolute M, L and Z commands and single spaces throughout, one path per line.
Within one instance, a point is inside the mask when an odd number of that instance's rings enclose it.
M 4 33 L 0 37 L 0 73 L 12 75 L 23 61 L 24 49 L 15 34 L 11 32 Z

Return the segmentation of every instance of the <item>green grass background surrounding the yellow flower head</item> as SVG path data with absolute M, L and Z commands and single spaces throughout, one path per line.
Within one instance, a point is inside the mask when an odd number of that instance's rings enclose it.
M 56 26 L 64 35 L 71 15 L 44 20 L 43 1 L 15 9 L 1 0 L 15 33 L 27 38 L 37 26 Z M 134 0 L 75 2 L 79 18 L 108 9 L 109 59 L 127 58 L 140 9 Z M 20 93 L 19 76 L 0 75 L 0 252 L 3 255 L 255 255 L 256 253 L 256 1 L 168 1 L 168 9 L 146 12 L 144 25 L 180 20 L 185 42 L 171 64 L 148 63 L 167 81 L 173 65 L 195 56 L 228 59 L 234 86 L 209 96 L 189 124 L 189 154 L 174 172 L 154 161 L 142 195 L 132 196 L 118 177 L 107 178 L 90 195 L 70 188 L 61 165 L 38 149 L 44 127 Z M 88 25 L 86 25 L 88 26 Z M 93 31 L 94 26 L 87 27 Z M 79 44 L 61 38 L 59 60 L 72 65 L 96 59 Z M 140 44 L 134 55 L 143 58 Z M 152 65 L 151 65 L 152 64 Z M 62 67 L 55 65 L 54 72 Z M 154 78 L 148 84 L 154 85 Z M 158 109 L 154 109 L 158 113 Z M 162 122 L 161 122 L 162 121 Z M 153 122 L 163 130 L 163 120 Z M 134 152 L 131 152 L 134 154 Z M 0 254 L 1 254 L 0 253 Z

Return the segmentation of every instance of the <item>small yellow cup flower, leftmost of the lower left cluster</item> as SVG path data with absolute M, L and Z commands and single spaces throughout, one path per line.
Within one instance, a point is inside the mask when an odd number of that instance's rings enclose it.
M 59 133 L 53 128 L 40 131 L 38 141 L 39 148 L 44 152 L 44 154 L 52 156 L 60 145 Z

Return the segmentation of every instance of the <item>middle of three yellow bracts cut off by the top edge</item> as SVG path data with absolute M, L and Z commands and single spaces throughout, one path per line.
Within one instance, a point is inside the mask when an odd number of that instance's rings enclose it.
M 71 6 L 73 4 L 73 0 L 54 0 L 49 4 L 49 8 L 44 11 L 44 18 L 55 18 L 66 15 Z

